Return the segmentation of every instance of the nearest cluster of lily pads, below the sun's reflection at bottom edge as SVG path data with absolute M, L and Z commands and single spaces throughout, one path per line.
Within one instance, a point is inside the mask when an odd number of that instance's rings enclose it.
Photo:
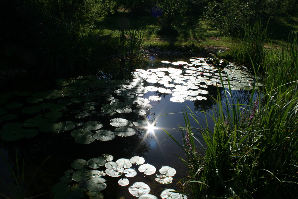
M 77 159 L 71 163 L 72 169 L 64 172 L 60 183 L 53 186 L 52 191 L 55 192 L 54 198 L 84 198 L 84 194 L 88 195 L 90 199 L 103 198 L 101 193 L 106 187 L 106 180 L 103 178 L 108 175 L 110 177 L 124 178 L 118 180 L 120 186 L 128 187 L 131 195 L 141 199 L 157 198 L 150 193 L 150 187 L 143 182 L 130 183 L 128 178 L 133 178 L 137 175 L 137 171 L 145 175 L 153 175 L 156 173 L 156 168 L 151 164 L 144 164 L 145 159 L 139 156 L 134 156 L 130 159 L 120 158 L 117 161 L 112 161 L 113 156 L 103 154 L 98 158 L 91 158 L 86 161 Z M 138 169 L 132 168 L 138 166 Z M 105 170 L 100 170 L 105 169 Z M 162 166 L 159 169 L 160 174 L 156 174 L 155 181 L 161 184 L 169 184 L 176 174 L 176 170 L 170 166 Z M 187 196 L 173 192 L 174 189 L 165 189 L 160 197 L 166 199 L 178 199 Z

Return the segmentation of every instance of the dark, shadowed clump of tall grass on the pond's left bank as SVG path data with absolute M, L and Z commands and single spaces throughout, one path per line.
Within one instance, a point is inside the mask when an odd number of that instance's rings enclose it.
M 46 60 L 42 71 L 56 76 L 89 68 L 96 55 L 96 44 L 91 27 L 66 24 L 59 30 L 48 30 L 39 50 Z

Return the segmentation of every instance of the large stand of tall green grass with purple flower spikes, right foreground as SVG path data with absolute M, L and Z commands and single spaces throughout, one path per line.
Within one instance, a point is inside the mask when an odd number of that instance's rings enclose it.
M 224 90 L 221 99 L 218 90 L 217 106 L 211 114 L 204 112 L 213 129 L 191 110 L 184 113 L 180 129 L 190 140 L 180 145 L 190 174 L 185 190 L 191 189 L 194 198 L 297 197 L 297 47 L 292 33 L 278 56 L 266 61 L 265 91 L 253 89 L 247 104 L 233 98 L 232 90 Z M 188 118 L 198 127 L 191 128 Z

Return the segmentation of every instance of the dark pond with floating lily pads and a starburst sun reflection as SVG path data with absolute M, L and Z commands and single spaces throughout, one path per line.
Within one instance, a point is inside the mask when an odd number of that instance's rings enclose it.
M 56 85 L 15 82 L 15 90 L 0 95 L 1 151 L 20 175 L 24 160 L 24 187 L 50 156 L 25 188 L 28 197 L 183 198 L 169 191 L 181 191 L 187 167 L 178 156 L 185 154 L 164 130 L 183 144 L 181 112 L 206 122 L 200 111 L 214 107 L 212 97 L 229 88 L 228 80 L 233 94 L 247 100 L 254 76 L 219 59 L 150 57 Z M 16 187 L 0 163 L 0 177 Z M 0 193 L 13 198 L 5 186 Z

